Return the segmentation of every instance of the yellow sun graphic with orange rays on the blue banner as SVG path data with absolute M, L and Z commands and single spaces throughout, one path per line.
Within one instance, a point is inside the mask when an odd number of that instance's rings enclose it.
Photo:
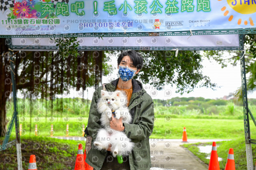
M 221 0 L 218 0 L 221 1 Z M 256 12 L 256 0 L 227 0 L 228 5 L 240 14 L 253 14 Z M 228 16 L 229 11 L 226 10 L 226 6 L 221 8 L 221 11 L 224 12 L 224 16 Z M 228 21 L 233 20 L 233 15 L 230 15 Z M 237 24 L 240 25 L 242 23 L 242 19 L 239 18 Z M 249 23 L 251 26 L 254 26 L 253 20 L 249 17 Z M 244 20 L 244 25 L 247 25 L 248 21 Z

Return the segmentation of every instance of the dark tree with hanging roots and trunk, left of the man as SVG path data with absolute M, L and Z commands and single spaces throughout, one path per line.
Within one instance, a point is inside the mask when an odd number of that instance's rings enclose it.
M 11 69 L 6 45 L 8 39 L 0 39 L 0 136 L 6 132 L 6 101 L 10 96 Z M 98 87 L 102 75 L 108 75 L 108 56 L 103 51 L 78 51 L 77 38 L 56 39 L 59 51 L 14 51 L 16 90 L 24 98 L 56 99 L 57 94 L 69 93 L 82 87 Z M 47 101 L 46 101 L 47 102 Z M 62 105 L 62 103 L 60 103 Z M 46 103 L 47 105 L 47 103 Z

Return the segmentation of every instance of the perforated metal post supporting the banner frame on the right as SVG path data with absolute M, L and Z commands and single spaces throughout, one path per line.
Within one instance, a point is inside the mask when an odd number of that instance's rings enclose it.
M 239 35 L 241 43 L 244 44 L 243 35 Z M 244 50 L 244 46 L 242 46 Z M 249 124 L 249 109 L 247 101 L 247 87 L 246 87 L 246 69 L 244 60 L 244 51 L 240 51 L 240 67 L 241 67 L 241 79 L 242 79 L 242 97 L 243 97 L 243 107 L 244 107 L 244 134 L 245 134 L 245 146 L 246 146 L 246 160 L 247 160 L 247 170 L 253 170 L 253 160 L 252 160 L 252 146 L 250 143 L 250 124 Z

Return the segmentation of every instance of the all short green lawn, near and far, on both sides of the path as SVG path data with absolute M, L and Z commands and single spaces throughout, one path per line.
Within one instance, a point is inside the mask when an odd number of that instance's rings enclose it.
M 168 119 L 166 118 L 168 116 Z M 22 156 L 25 156 L 26 161 L 28 161 L 30 154 L 40 155 L 42 157 L 42 162 L 38 163 L 38 167 L 43 169 L 43 167 L 66 167 L 67 169 L 74 168 L 74 161 L 77 152 L 77 141 L 53 141 L 54 148 L 48 147 L 50 142 L 50 128 L 51 124 L 54 125 L 54 136 L 64 136 L 66 134 L 66 124 L 69 125 L 69 136 L 82 136 L 82 125 L 85 127 L 87 125 L 88 117 L 78 117 L 76 115 L 65 116 L 62 115 L 56 116 L 53 115 L 54 118 L 46 119 L 45 117 L 37 117 L 33 115 L 30 124 L 30 117 L 28 116 L 20 116 L 20 124 L 22 124 L 22 135 L 21 140 L 26 145 L 27 148 L 24 148 L 22 151 Z M 170 119 L 170 117 L 172 119 Z M 197 118 L 197 119 L 196 119 Z M 206 119 L 204 119 L 206 118 Z M 246 154 L 245 154 L 245 143 L 244 143 L 244 120 L 243 119 L 232 119 L 232 116 L 221 116 L 221 115 L 170 115 L 159 114 L 155 115 L 154 120 L 154 130 L 150 138 L 172 138 L 172 139 L 182 139 L 183 127 L 186 127 L 186 132 L 188 136 L 188 140 L 190 139 L 232 139 L 232 141 L 226 142 L 217 142 L 218 146 L 218 155 L 223 158 L 220 161 L 220 167 L 224 170 L 224 166 L 226 164 L 226 158 L 228 155 L 229 147 L 234 148 L 235 152 L 235 162 L 236 169 L 243 170 L 246 169 Z M 235 117 L 237 118 L 237 116 Z M 38 136 L 34 135 L 34 125 L 38 125 Z M 32 131 L 30 132 L 30 125 L 32 125 Z M 256 138 L 256 127 L 254 123 L 250 121 L 251 128 L 251 137 Z M 12 138 L 15 136 L 15 130 L 12 130 Z M 31 139 L 29 139 L 29 137 Z M 33 144 L 42 138 L 40 141 L 40 150 L 34 150 Z M 29 142 L 31 141 L 31 142 Z M 63 143 L 68 142 L 69 148 L 63 149 Z M 0 142 L 2 143 L 2 142 Z M 211 143 L 208 143 L 211 145 Z M 199 145 L 199 144 L 198 144 Z M 47 148 L 48 147 L 48 148 Z M 201 160 L 209 163 L 209 160 L 206 159 L 207 154 L 202 154 L 198 152 L 198 147 L 196 144 L 186 144 L 189 150 L 191 150 L 196 156 L 198 156 Z M 252 145 L 252 148 L 255 150 L 256 147 Z M 3 153 L 3 154 L 2 154 Z M 16 150 L 15 147 L 9 149 L 9 151 L 1 152 L 2 156 L 12 156 L 12 163 L 9 162 L 8 166 L 10 169 L 16 167 Z M 61 157 L 59 155 L 62 155 Z M 256 155 L 254 152 L 253 155 Z M 51 159 L 53 156 L 54 159 L 58 162 L 56 164 L 46 162 Z M 63 156 L 70 158 L 69 162 L 61 162 Z M 0 160 L 0 169 L 6 167 L 6 163 L 4 163 L 4 158 Z M 65 158 L 66 158 L 65 157 Z M 255 159 L 256 157 L 254 157 Z M 2 161 L 2 162 L 1 162 Z M 23 162 L 24 167 L 27 166 L 28 162 Z M 49 168 L 47 167 L 47 168 Z M 26 167 L 27 168 L 27 167 Z M 55 168 L 58 169 L 58 168 Z

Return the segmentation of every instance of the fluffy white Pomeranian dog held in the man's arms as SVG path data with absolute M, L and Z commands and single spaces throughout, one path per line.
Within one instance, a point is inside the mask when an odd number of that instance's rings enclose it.
M 122 91 L 108 92 L 101 90 L 101 98 L 98 99 L 98 112 L 101 113 L 100 121 L 104 128 L 98 131 L 93 144 L 98 150 L 107 150 L 109 144 L 111 144 L 113 157 L 116 157 L 116 155 L 128 156 L 134 147 L 134 142 L 131 142 L 131 139 L 124 132 L 110 128 L 113 110 L 116 115 L 114 119 L 122 117 L 123 123 L 132 123 L 132 117 L 127 107 L 127 98 L 122 95 Z

